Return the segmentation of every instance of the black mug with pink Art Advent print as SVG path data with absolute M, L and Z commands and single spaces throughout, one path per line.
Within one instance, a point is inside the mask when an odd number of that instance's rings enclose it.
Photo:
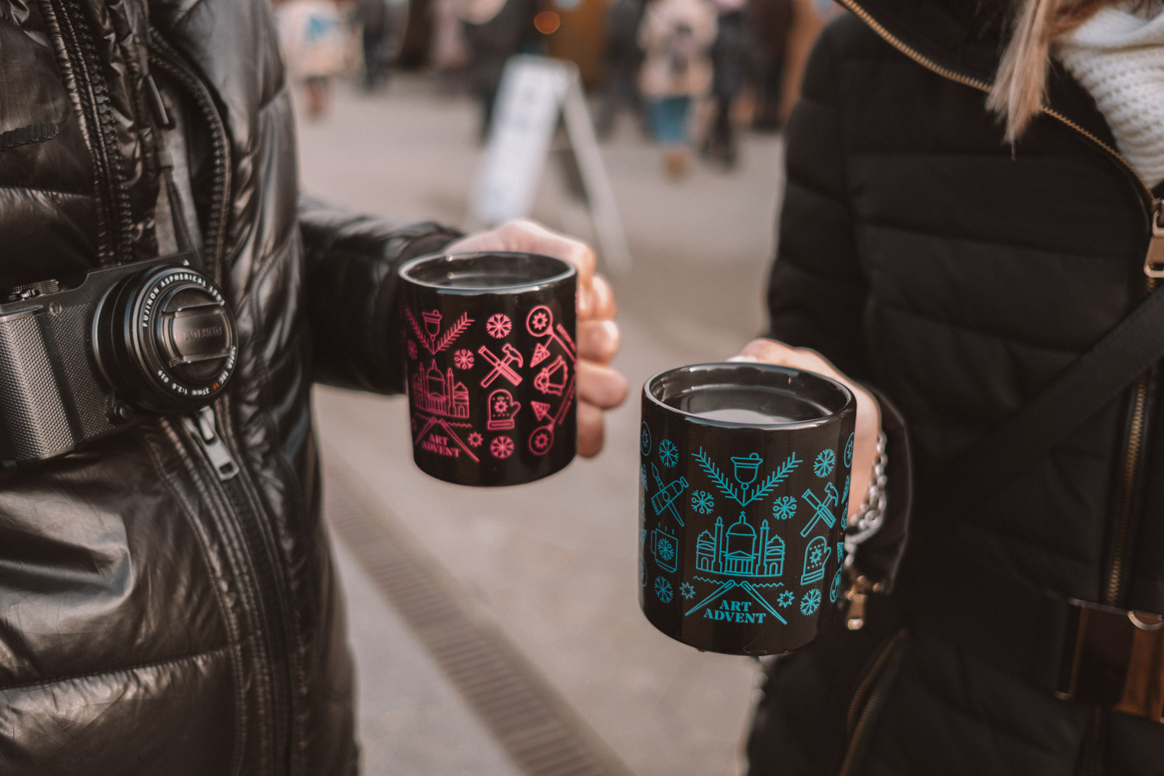
M 412 457 L 460 485 L 519 485 L 577 443 L 577 271 L 549 256 L 470 252 L 404 264 Z

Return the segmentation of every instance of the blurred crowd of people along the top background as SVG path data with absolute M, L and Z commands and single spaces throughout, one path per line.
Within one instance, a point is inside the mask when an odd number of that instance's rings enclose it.
M 434 71 L 481 104 L 489 133 L 505 62 L 574 62 L 609 136 L 632 116 L 684 176 L 697 154 L 731 169 L 741 129 L 776 131 L 796 97 L 829 0 L 274 0 L 290 76 L 308 116 L 354 74 L 369 92 L 393 69 Z

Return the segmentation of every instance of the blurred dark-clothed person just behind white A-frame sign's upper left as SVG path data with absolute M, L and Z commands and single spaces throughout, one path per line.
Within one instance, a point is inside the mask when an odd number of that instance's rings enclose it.
M 481 100 L 481 140 L 489 137 L 505 62 L 534 35 L 538 0 L 461 0 L 469 49 L 469 88 Z

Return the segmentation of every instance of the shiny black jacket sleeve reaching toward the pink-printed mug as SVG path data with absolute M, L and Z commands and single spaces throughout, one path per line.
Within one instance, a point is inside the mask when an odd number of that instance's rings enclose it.
M 402 226 L 301 198 L 314 379 L 398 393 L 404 386 L 396 269 L 459 236 L 432 222 Z

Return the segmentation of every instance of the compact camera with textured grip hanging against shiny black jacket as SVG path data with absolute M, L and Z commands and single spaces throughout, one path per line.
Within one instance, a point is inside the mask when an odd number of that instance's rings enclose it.
M 0 294 L 0 465 L 64 455 L 141 418 L 190 413 L 237 358 L 234 314 L 192 252 Z

